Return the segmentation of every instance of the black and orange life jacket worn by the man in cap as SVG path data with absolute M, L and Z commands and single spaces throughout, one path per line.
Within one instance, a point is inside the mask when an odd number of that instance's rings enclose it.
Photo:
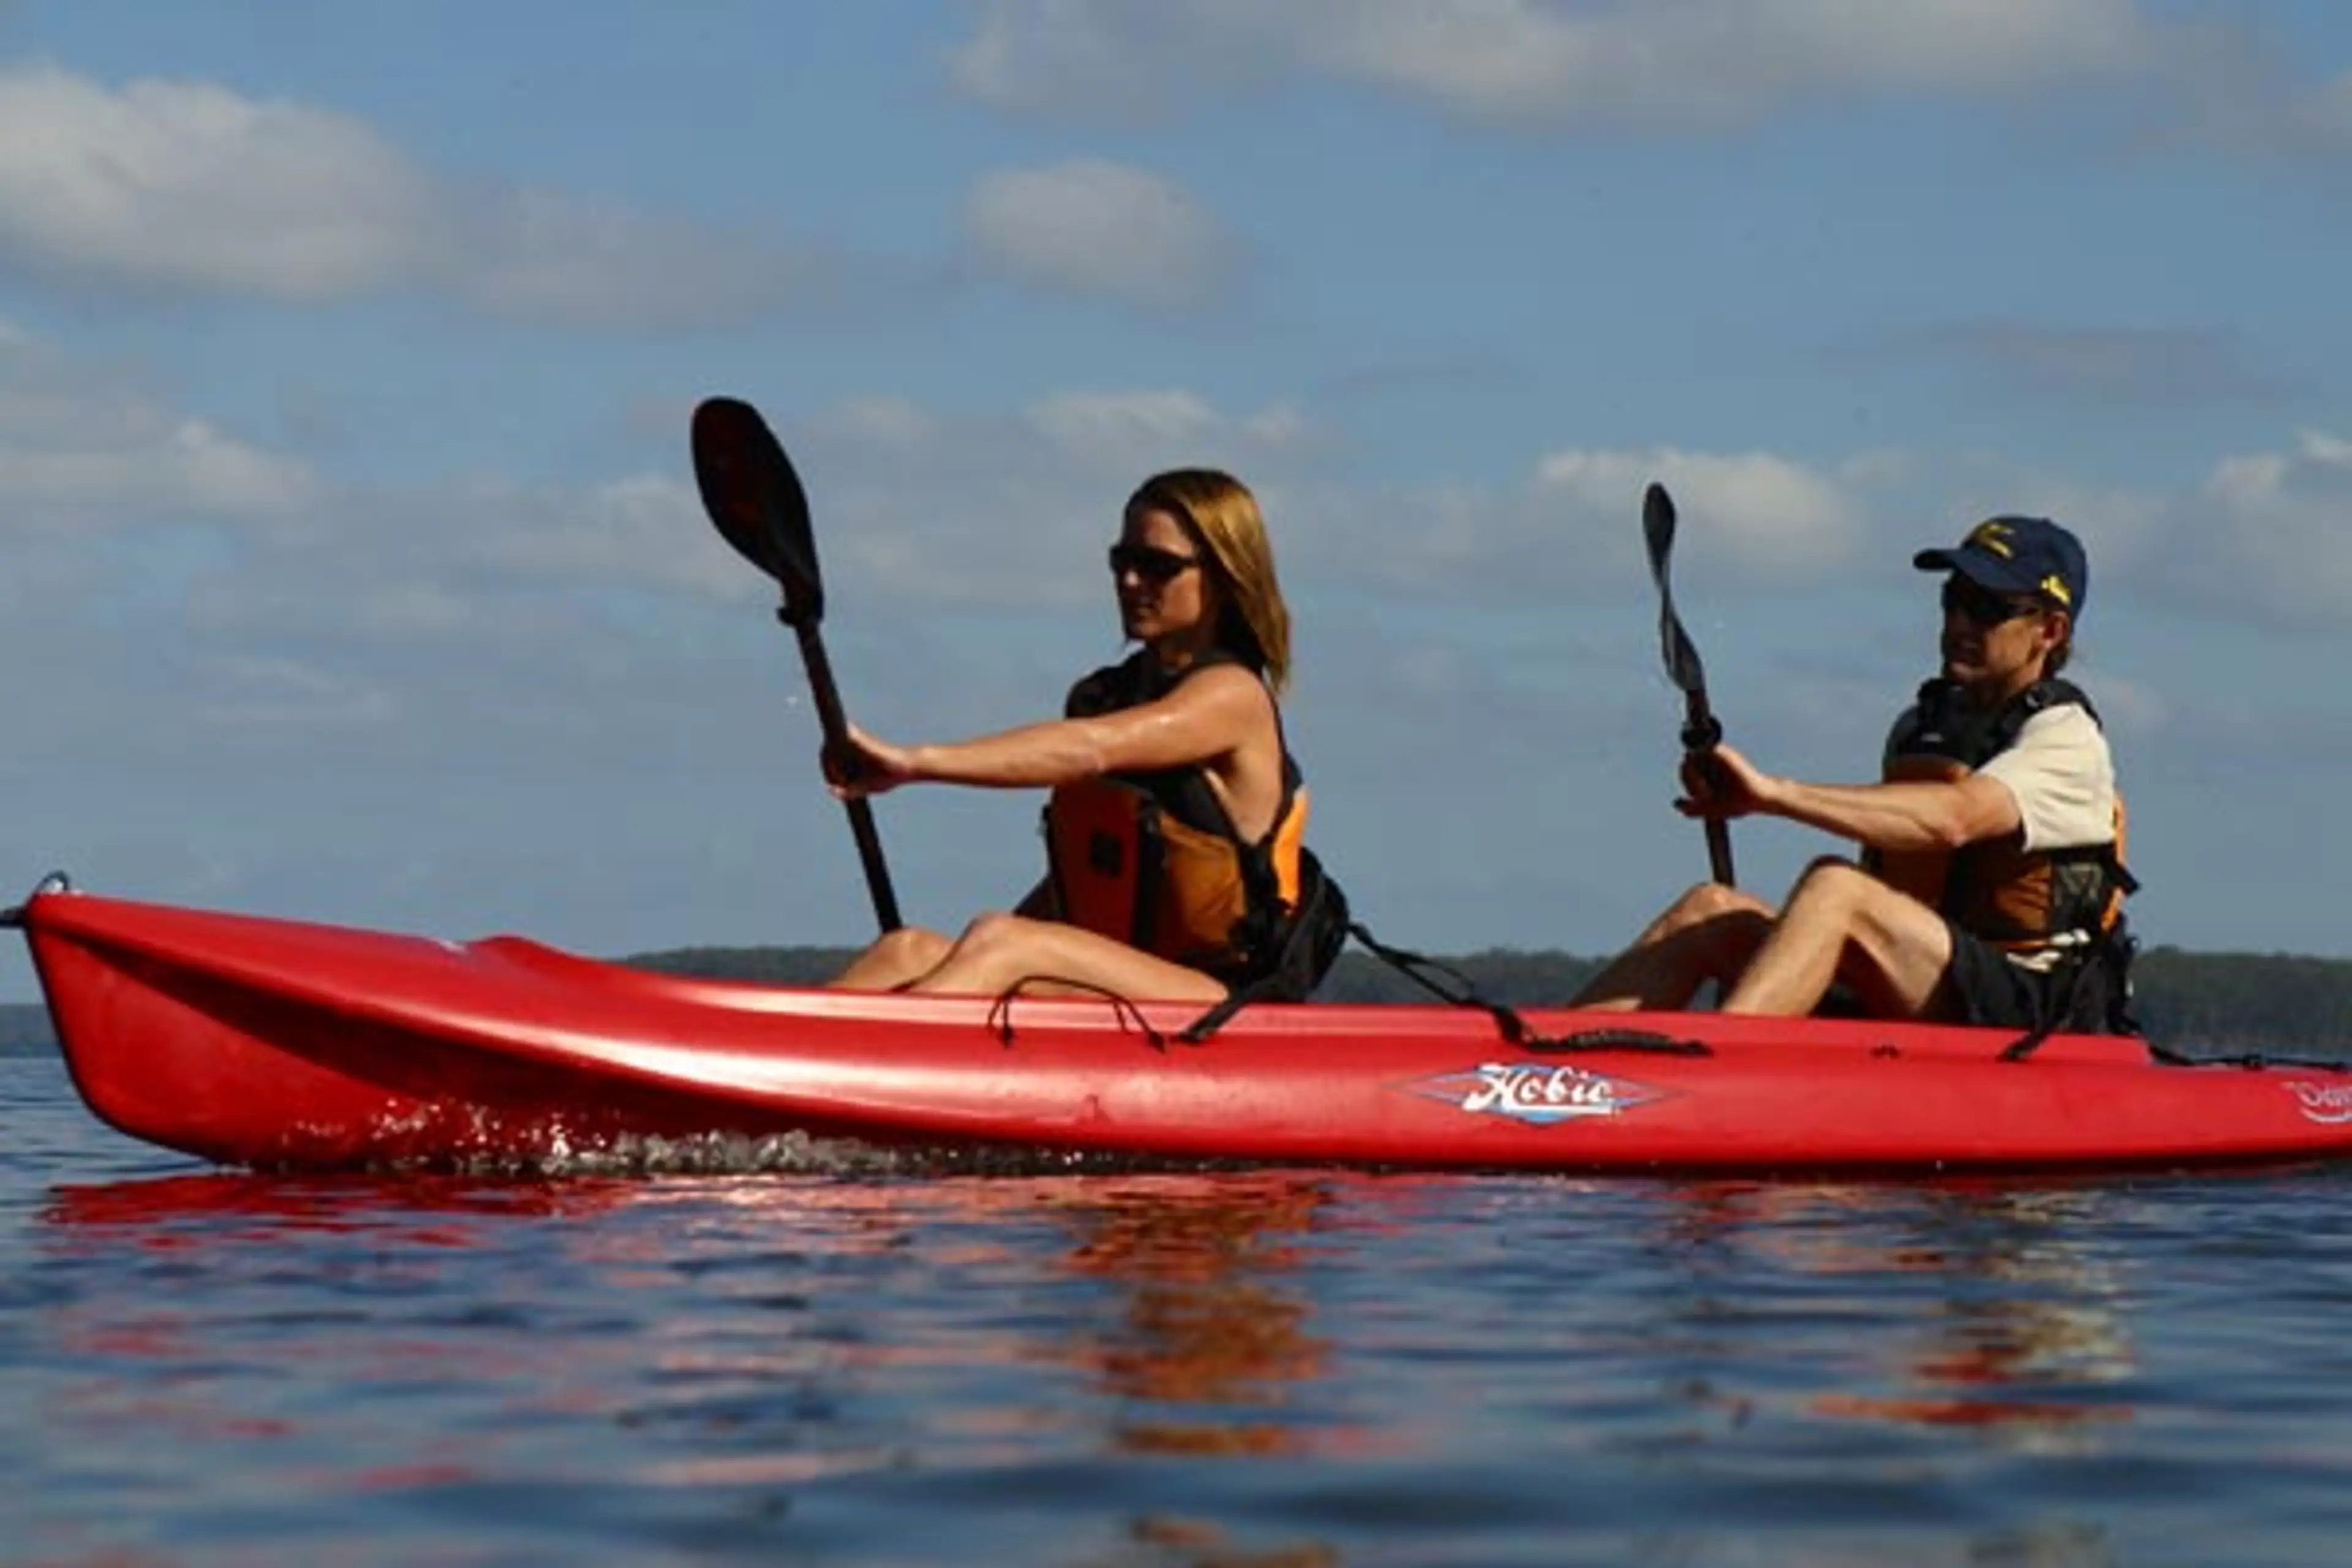
M 2013 748 L 2025 722 L 2051 708 L 2082 708 L 2098 724 L 2091 698 L 2063 679 L 2034 682 L 1987 715 L 1971 712 L 1959 696 L 1947 679 L 1919 686 L 1919 705 L 1886 748 L 1889 783 L 1966 778 Z M 2098 943 L 2119 931 L 2124 896 L 2140 886 L 2124 867 L 2124 797 L 2117 795 L 2107 844 L 2025 851 L 2023 835 L 2006 835 L 1957 851 L 1870 849 L 1863 867 L 1994 947 L 2023 954 Z

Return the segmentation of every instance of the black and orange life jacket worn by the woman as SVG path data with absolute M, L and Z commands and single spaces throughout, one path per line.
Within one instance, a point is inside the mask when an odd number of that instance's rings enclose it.
M 1211 654 L 1169 677 L 1143 651 L 1077 682 L 1065 712 L 1138 708 L 1221 663 L 1240 661 Z M 1256 844 L 1232 827 L 1200 766 L 1058 785 L 1044 806 L 1054 905 L 1073 926 L 1240 985 L 1282 957 L 1301 905 L 1305 825 L 1308 790 L 1287 743 L 1282 806 Z

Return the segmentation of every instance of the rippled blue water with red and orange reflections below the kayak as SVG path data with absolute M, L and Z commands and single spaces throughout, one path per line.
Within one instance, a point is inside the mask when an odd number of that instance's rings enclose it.
M 2343 1563 L 2347 1199 L 287 1180 L 0 1058 L 0 1561 Z

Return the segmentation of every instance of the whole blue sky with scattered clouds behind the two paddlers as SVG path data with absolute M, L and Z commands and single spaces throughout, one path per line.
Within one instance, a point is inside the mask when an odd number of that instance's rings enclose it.
M 694 498 L 731 393 L 903 741 L 1056 710 L 1127 491 L 1240 473 L 1310 837 L 1442 950 L 1705 867 L 1646 480 L 1731 736 L 1828 780 L 1931 670 L 1910 552 L 2056 515 L 2143 936 L 2345 954 L 2347 275 L 2317 2 L 0 0 L 0 877 L 858 940 Z M 1035 806 L 882 799 L 910 917 L 1018 896 Z

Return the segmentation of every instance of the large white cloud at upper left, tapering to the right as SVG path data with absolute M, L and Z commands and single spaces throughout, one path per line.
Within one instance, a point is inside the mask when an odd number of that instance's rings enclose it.
M 529 188 L 463 188 L 365 122 L 214 82 L 0 68 L 0 263 L 73 284 L 332 301 L 445 289 L 567 322 L 731 320 L 818 263 Z

